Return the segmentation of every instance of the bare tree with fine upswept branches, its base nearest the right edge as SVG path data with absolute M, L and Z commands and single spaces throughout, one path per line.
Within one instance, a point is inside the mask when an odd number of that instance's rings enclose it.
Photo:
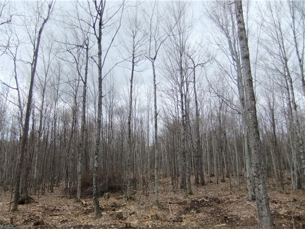
M 303 135 L 301 132 L 296 87 L 294 85 L 295 59 L 292 59 L 292 56 L 290 55 L 290 52 L 293 52 L 293 49 L 297 49 L 298 46 L 295 46 L 296 43 L 294 41 L 290 41 L 290 43 L 295 44 L 293 46 L 287 44 L 287 41 L 290 40 L 290 35 L 287 37 L 287 31 L 289 31 L 291 27 L 287 26 L 287 24 L 283 22 L 285 16 L 283 14 L 282 7 L 283 2 L 267 2 L 267 12 L 270 12 L 270 16 L 263 16 L 265 20 L 262 26 L 267 39 L 266 42 L 261 45 L 267 51 L 269 55 L 268 58 L 271 60 L 269 61 L 269 59 L 265 57 L 265 60 L 267 61 L 264 62 L 264 66 L 272 70 L 274 75 L 277 77 L 276 81 L 279 82 L 285 89 L 290 140 L 299 147 L 299 150 L 291 147 L 294 167 L 292 174 L 295 176 L 295 186 L 297 188 L 301 188 L 303 180 L 302 167 L 304 166 L 303 163 L 305 163 L 305 161 L 303 160 L 300 162 L 300 157 L 303 157 L 302 155 L 305 153 L 305 148 Z M 301 55 L 301 53 L 299 53 L 297 56 L 299 55 Z M 296 57 L 296 60 L 298 60 L 298 57 Z M 298 62 L 298 65 L 300 67 L 300 62 Z

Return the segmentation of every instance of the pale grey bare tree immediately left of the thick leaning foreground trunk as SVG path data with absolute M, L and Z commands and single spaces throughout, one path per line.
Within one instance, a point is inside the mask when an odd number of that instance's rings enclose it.
M 240 103 L 240 108 L 238 112 L 240 113 L 242 120 L 242 130 L 243 130 L 243 140 L 244 140 L 244 155 L 246 160 L 246 175 L 247 175 L 247 189 L 249 199 L 253 199 L 253 175 L 252 175 L 252 165 L 251 165 L 251 151 L 249 150 L 249 136 L 248 128 L 246 124 L 246 105 L 245 105 L 245 95 L 244 95 L 244 83 L 242 79 L 241 70 L 241 60 L 240 60 L 240 50 L 239 42 L 237 36 L 236 20 L 234 19 L 234 5 L 228 4 L 225 1 L 215 1 L 211 2 L 211 7 L 207 11 L 208 17 L 212 20 L 219 29 L 221 37 L 213 36 L 214 40 L 217 42 L 218 47 L 223 52 L 223 54 L 228 58 L 228 61 L 233 66 L 234 72 L 229 71 L 229 67 L 223 65 L 223 63 L 216 60 L 220 70 L 223 74 L 226 74 L 232 79 L 238 89 L 238 98 Z M 223 39 L 225 38 L 225 39 Z M 223 40 L 226 41 L 226 45 L 223 44 Z M 231 67 L 230 67 L 231 68 Z M 236 77 L 234 76 L 236 75 Z M 225 98 L 223 98 L 225 99 Z M 238 169 L 239 170 L 239 169 Z

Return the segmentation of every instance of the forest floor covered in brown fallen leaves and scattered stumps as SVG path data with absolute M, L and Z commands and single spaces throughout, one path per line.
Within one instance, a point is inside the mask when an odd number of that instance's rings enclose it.
M 244 186 L 244 184 L 243 184 Z M 35 202 L 19 205 L 18 212 L 9 209 L 11 193 L 0 191 L 0 224 L 2 228 L 11 220 L 22 229 L 98 229 L 98 228 L 164 228 L 164 229 L 256 229 L 256 203 L 236 187 L 230 189 L 229 180 L 215 182 L 209 187 L 193 187 L 193 195 L 183 198 L 183 190 L 171 189 L 170 181 L 160 184 L 160 207 L 153 205 L 153 191 L 144 195 L 142 190 L 132 192 L 126 201 L 123 192 L 110 193 L 109 199 L 100 198 L 102 218 L 94 218 L 92 198 L 82 203 L 67 199 L 63 188 L 43 196 L 31 194 Z M 244 190 L 245 187 L 242 187 Z M 153 189 L 153 187 L 151 188 Z M 305 191 L 268 187 L 269 203 L 274 224 L 278 229 L 305 228 Z M 124 218 L 113 215 L 122 211 Z M 0 227 L 1 228 L 1 227 Z

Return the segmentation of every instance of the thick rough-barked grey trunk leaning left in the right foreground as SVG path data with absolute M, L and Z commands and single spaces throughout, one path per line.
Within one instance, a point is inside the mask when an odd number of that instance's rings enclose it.
M 250 54 L 248 40 L 242 13 L 242 1 L 235 1 L 236 18 L 238 25 L 238 37 L 240 41 L 240 54 L 242 61 L 242 73 L 245 83 L 245 98 L 247 107 L 247 123 L 250 131 L 250 146 L 252 152 L 253 178 L 258 211 L 258 226 L 260 229 L 272 229 L 273 221 L 269 207 L 267 189 L 262 168 L 261 139 L 256 114 L 256 101 L 250 66 Z

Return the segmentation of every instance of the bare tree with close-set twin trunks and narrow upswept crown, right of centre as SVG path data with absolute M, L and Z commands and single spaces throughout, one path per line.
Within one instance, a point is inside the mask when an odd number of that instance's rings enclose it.
M 181 186 L 184 190 L 184 197 L 188 198 L 188 188 L 191 192 L 191 183 L 190 179 L 187 179 L 187 176 L 190 176 L 188 173 L 189 170 L 189 162 L 190 159 L 188 156 L 188 148 L 187 148 L 187 124 L 186 124 L 186 103 L 185 97 L 187 96 L 187 66 L 186 66 L 186 49 L 187 42 L 191 35 L 191 29 L 193 26 L 193 21 L 188 21 L 188 9 L 189 3 L 186 2 L 172 2 L 172 17 L 175 24 L 174 30 L 169 39 L 171 42 L 171 46 L 166 50 L 168 55 L 171 55 L 169 58 L 169 63 L 166 63 L 168 66 L 169 74 L 172 74 L 172 77 L 177 81 L 178 91 L 179 91 L 179 99 L 180 99 L 180 115 L 181 115 Z M 171 60 L 171 61 L 170 61 Z M 188 186 L 187 187 L 187 181 Z

